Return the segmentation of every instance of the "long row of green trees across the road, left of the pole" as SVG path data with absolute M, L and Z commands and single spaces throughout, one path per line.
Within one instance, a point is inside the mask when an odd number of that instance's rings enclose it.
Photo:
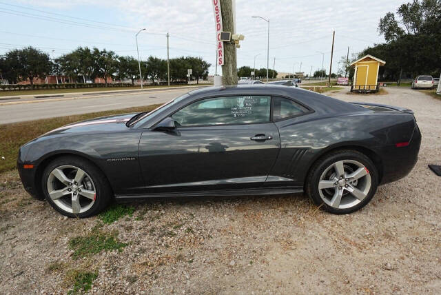
M 140 61 L 143 79 L 151 79 L 152 83 L 167 80 L 167 60 L 148 57 Z M 187 69 L 192 69 L 192 77 L 207 79 L 210 63 L 200 57 L 177 57 L 170 59 L 170 81 L 186 81 Z M 45 79 L 48 75 L 63 75 L 77 83 L 83 77 L 94 80 L 97 77 L 105 79 L 130 79 L 132 84 L 139 79 L 138 60 L 131 56 L 119 56 L 112 50 L 79 47 L 57 59 L 50 59 L 49 54 L 37 48 L 14 49 L 0 57 L 0 74 L 2 79 L 16 84 L 19 81 L 30 80 L 33 87 L 34 78 Z M 85 81 L 83 81 L 85 82 Z

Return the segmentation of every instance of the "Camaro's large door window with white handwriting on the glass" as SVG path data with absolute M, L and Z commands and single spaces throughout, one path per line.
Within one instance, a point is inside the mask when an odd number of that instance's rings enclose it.
M 269 122 L 270 96 L 225 96 L 196 101 L 174 113 L 181 126 Z

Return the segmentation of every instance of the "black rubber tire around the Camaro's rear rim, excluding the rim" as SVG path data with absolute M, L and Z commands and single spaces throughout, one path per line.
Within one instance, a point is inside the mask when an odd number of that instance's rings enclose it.
M 333 165 L 338 161 L 358 161 L 362 165 L 365 165 L 369 170 L 370 175 L 370 189 L 366 194 L 365 199 L 362 199 L 360 203 L 353 205 L 353 207 L 349 208 L 336 208 L 331 207 L 325 201 L 322 200 L 320 196 L 318 183 L 320 182 L 320 176 L 322 175 L 328 167 Z M 307 176 L 307 181 L 305 183 L 305 190 L 307 195 L 316 203 L 316 205 L 320 205 L 323 210 L 333 214 L 349 214 L 351 212 L 355 212 L 360 208 L 364 207 L 369 201 L 371 201 L 373 195 L 376 193 L 378 187 L 378 170 L 376 166 L 372 163 L 369 157 L 365 156 L 361 152 L 355 150 L 340 150 L 337 152 L 331 152 L 329 154 L 325 154 L 320 159 L 314 163 L 311 167 L 311 170 Z

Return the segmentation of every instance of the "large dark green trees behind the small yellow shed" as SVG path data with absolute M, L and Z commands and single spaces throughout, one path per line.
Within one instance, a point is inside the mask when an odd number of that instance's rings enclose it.
M 420 74 L 440 77 L 441 72 L 441 1 L 413 0 L 402 4 L 396 11 L 387 12 L 380 19 L 378 32 L 385 43 L 369 46 L 358 54 L 340 59 L 340 73 L 354 69 L 349 64 L 371 54 L 386 61 L 379 75 L 385 81 L 415 78 Z

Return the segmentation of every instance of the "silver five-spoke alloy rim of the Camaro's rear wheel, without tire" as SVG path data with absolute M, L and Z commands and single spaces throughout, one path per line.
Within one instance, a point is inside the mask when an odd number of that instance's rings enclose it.
M 362 163 L 342 160 L 333 163 L 320 176 L 318 192 L 327 205 L 347 209 L 363 201 L 371 189 L 371 175 Z

